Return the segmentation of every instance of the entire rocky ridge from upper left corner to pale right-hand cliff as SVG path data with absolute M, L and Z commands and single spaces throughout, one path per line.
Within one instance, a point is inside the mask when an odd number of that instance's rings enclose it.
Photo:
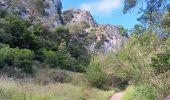
M 14 3 L 15 5 L 12 5 Z M 125 37 L 121 36 L 118 27 L 97 24 L 89 11 L 70 9 L 61 12 L 62 3 L 60 0 L 1 0 L 0 8 L 18 13 L 23 19 L 29 19 L 34 23 L 41 22 L 53 29 L 61 25 L 80 25 L 82 22 L 85 22 L 89 27 L 82 27 L 80 30 L 74 32 L 93 34 L 88 37 L 91 38 L 91 42 L 85 45 L 87 50 L 91 52 L 116 52 L 120 50 L 125 41 Z M 75 35 L 73 37 L 77 41 L 87 38 L 80 38 L 79 36 Z

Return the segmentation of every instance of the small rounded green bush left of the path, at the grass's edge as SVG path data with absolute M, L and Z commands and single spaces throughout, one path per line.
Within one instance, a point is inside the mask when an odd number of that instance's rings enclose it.
M 86 78 L 92 86 L 104 88 L 107 75 L 102 71 L 100 63 L 92 60 L 86 69 Z

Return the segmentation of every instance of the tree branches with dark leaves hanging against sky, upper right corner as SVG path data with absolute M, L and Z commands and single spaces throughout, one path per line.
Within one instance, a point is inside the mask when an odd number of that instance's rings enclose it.
M 139 10 L 142 15 L 138 20 L 143 24 L 157 25 L 168 2 L 169 0 L 125 0 L 123 13 L 127 13 L 129 10 L 136 7 L 138 3 L 142 3 Z M 144 7 L 145 4 L 146 7 Z

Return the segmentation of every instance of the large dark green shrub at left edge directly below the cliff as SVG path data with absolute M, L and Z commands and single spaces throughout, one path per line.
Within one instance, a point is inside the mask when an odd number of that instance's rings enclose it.
M 10 47 L 35 50 L 40 48 L 39 38 L 29 29 L 30 23 L 19 18 L 1 19 L 0 40 Z M 3 30 L 3 31 L 2 31 Z

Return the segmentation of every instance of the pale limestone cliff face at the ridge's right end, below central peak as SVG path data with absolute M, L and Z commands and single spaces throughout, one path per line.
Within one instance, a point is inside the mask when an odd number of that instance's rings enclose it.
M 113 25 L 98 25 L 91 32 L 96 34 L 97 39 L 89 46 L 90 50 L 108 53 L 116 52 L 124 45 L 125 37 L 121 36 L 118 27 Z

